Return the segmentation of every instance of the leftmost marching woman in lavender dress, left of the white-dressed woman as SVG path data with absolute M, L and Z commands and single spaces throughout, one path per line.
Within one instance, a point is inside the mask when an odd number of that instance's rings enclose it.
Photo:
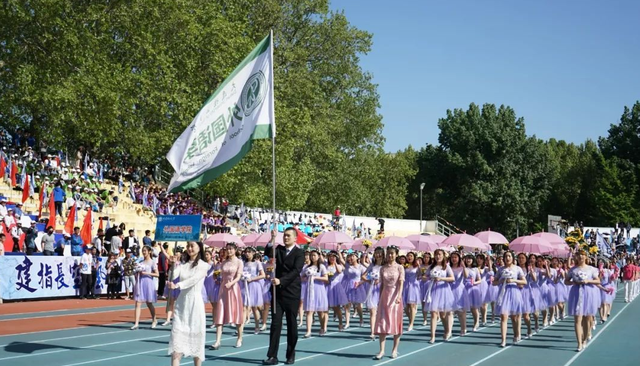
M 136 266 L 136 284 L 133 288 L 133 300 L 136 302 L 135 310 L 135 323 L 131 327 L 131 330 L 138 329 L 138 323 L 140 322 L 140 307 L 142 303 L 147 303 L 147 308 L 151 312 L 151 328 L 155 328 L 158 324 L 156 319 L 156 309 L 153 306 L 158 300 L 158 294 L 156 292 L 155 285 L 153 283 L 153 277 L 158 277 L 158 266 L 156 262 L 151 258 L 152 249 L 150 247 L 142 248 L 142 262 Z

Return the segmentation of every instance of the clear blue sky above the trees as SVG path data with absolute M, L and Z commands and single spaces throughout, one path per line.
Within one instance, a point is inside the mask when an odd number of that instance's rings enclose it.
M 438 142 L 438 119 L 505 104 L 528 135 L 582 143 L 640 100 L 640 1 L 332 0 L 373 34 L 385 149 Z

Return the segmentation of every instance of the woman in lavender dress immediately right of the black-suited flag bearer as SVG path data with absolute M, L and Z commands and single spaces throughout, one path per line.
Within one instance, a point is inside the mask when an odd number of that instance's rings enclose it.
M 311 263 L 302 268 L 302 282 L 306 282 L 305 292 L 302 294 L 304 309 L 307 312 L 307 333 L 305 338 L 311 337 L 311 325 L 313 323 L 313 313 L 318 313 L 320 318 L 320 336 L 327 332 L 327 311 L 329 304 L 327 301 L 327 268 L 320 263 L 320 253 L 313 250 L 309 259 Z

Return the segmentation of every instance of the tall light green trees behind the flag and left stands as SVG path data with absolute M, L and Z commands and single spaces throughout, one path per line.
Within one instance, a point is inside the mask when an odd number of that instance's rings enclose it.
M 404 214 L 413 159 L 382 149 L 376 85 L 359 66 L 372 36 L 327 0 L 8 0 L 0 24 L 3 125 L 140 163 L 163 160 L 273 29 L 278 208 Z M 206 189 L 268 207 L 271 183 L 260 141 Z

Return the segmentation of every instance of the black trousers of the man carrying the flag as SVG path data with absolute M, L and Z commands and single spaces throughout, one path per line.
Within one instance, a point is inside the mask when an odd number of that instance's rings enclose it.
M 280 334 L 282 333 L 282 315 L 287 317 L 287 360 L 295 359 L 298 343 L 298 299 L 276 299 L 276 306 L 271 313 L 271 332 L 269 334 L 269 351 L 267 357 L 278 358 Z

